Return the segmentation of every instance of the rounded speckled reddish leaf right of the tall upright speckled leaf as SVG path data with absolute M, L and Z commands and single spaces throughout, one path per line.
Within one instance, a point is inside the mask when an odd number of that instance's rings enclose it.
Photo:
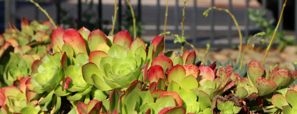
M 289 70 L 281 69 L 277 70 L 273 77 L 272 81 L 274 81 L 277 84 L 277 87 L 283 86 L 287 84 L 292 78 L 292 74 Z

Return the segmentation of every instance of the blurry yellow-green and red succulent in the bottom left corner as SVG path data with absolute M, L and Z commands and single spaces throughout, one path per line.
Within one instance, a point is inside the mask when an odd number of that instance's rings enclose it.
M 15 86 L 3 87 L 0 90 L 1 114 L 26 113 L 35 114 L 40 110 L 36 106 L 37 100 L 34 100 L 36 93 L 26 90 L 26 81 L 30 77 L 23 78 L 20 81 L 19 88 Z

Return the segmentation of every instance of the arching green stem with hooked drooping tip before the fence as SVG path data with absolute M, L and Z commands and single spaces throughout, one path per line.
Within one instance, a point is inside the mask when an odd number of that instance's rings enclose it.
M 228 9 L 217 8 L 217 7 L 210 7 L 210 8 L 208 8 L 205 12 L 203 12 L 203 15 L 205 15 L 205 16 L 207 17 L 207 16 L 208 16 L 208 12 L 209 12 L 211 9 L 216 9 L 216 10 L 219 10 L 219 11 L 225 11 L 225 12 L 227 12 L 227 13 L 231 16 L 231 18 L 233 19 L 234 24 L 236 25 L 237 30 L 238 30 L 238 34 L 239 34 L 239 49 L 238 49 L 239 53 L 238 53 L 238 57 L 237 57 L 237 58 L 239 58 L 239 57 L 240 57 L 240 54 L 241 54 L 241 49 L 242 49 L 242 35 L 241 35 L 241 30 L 240 30 L 240 28 L 239 28 L 239 25 L 238 25 L 238 23 L 237 23 L 237 21 L 236 21 L 234 15 L 233 15 L 231 12 L 229 12 Z M 237 64 L 237 63 L 238 63 L 238 60 L 236 61 L 236 64 Z

